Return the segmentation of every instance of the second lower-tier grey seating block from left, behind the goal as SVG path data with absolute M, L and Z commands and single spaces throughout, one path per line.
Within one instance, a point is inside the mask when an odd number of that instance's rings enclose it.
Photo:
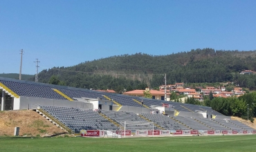
M 115 122 L 117 122 L 118 124 L 121 124 L 122 122 L 125 121 L 131 121 L 131 122 L 147 122 L 146 120 L 144 120 L 142 117 L 136 115 L 135 113 L 131 113 L 131 112 L 123 112 L 123 111 L 104 111 L 102 110 L 102 113 L 104 115 L 106 115 L 107 117 L 109 117 L 111 120 L 114 120 Z M 127 125 L 126 126 L 127 130 L 136 130 L 136 129 L 140 129 L 140 130 L 151 130 L 152 126 L 150 125 Z M 157 129 L 155 127 L 155 129 Z

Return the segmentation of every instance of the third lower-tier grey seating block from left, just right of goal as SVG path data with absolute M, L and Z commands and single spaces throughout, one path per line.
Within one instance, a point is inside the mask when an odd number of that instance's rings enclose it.
M 159 126 L 163 127 L 164 129 L 170 129 L 170 130 L 183 130 L 188 129 L 187 127 L 183 126 L 182 124 L 179 124 L 178 122 L 175 122 L 175 120 L 172 120 L 170 117 L 167 117 L 165 115 L 155 115 L 150 113 L 142 113 L 144 117 L 147 117 L 147 119 L 151 120 L 152 122 L 155 122 Z

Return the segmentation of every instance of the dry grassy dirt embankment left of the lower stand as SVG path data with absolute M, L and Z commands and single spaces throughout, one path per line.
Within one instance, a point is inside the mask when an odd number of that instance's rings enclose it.
M 20 136 L 48 136 L 64 133 L 35 111 L 0 111 L 0 136 L 14 135 L 19 126 Z

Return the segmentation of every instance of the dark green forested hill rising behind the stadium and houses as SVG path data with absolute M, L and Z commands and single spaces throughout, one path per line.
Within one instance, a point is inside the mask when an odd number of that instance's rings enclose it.
M 140 83 L 153 88 L 163 84 L 163 74 L 166 73 L 168 84 L 235 81 L 246 86 L 246 81 L 250 81 L 255 86 L 254 75 L 239 82 L 240 75 L 237 74 L 241 70 L 256 70 L 256 50 L 204 48 L 159 56 L 143 53 L 113 56 L 43 70 L 39 73 L 39 82 L 48 83 L 52 75 L 57 75 L 63 85 L 80 88 L 120 90 L 135 88 Z

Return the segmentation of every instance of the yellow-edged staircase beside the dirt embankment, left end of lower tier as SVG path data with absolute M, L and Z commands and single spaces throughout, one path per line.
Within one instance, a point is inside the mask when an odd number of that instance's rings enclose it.
M 74 134 L 74 131 L 69 129 L 65 124 L 63 124 L 62 122 L 57 120 L 55 117 L 53 117 L 52 115 L 50 115 L 49 113 L 44 111 L 42 108 L 37 108 L 36 112 L 39 113 L 39 115 L 42 115 L 43 117 L 45 117 L 46 120 L 49 120 L 50 122 L 52 122 L 56 126 L 60 127 L 60 129 L 65 130 L 68 133 Z

